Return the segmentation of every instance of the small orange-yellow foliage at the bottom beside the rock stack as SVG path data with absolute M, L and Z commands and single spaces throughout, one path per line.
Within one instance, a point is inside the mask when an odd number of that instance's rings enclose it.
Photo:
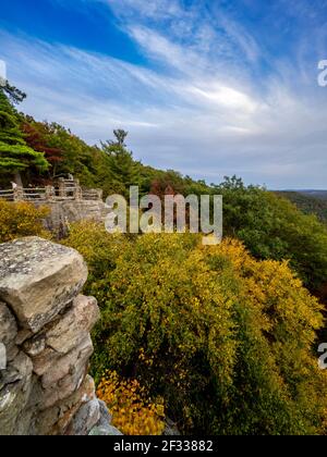
M 98 390 L 112 415 L 112 424 L 125 435 L 161 435 L 165 430 L 164 399 L 152 403 L 137 380 L 120 380 L 107 371 Z

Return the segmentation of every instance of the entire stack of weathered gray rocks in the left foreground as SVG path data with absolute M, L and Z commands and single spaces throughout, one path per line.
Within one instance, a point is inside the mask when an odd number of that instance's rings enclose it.
M 0 259 L 0 435 L 119 434 L 87 374 L 99 309 L 83 258 L 32 237 Z

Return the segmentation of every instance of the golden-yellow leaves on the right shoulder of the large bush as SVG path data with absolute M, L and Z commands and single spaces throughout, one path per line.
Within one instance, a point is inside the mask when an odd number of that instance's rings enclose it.
M 303 287 L 288 261 L 258 261 L 249 255 L 242 243 L 230 238 L 219 246 L 205 249 L 209 259 L 219 259 L 220 264 L 225 265 L 222 274 L 226 274 L 228 264 L 232 265 L 232 275 L 238 283 L 238 297 L 234 298 L 253 309 L 259 326 L 274 332 L 281 322 L 286 335 L 293 332 L 303 337 L 306 344 L 313 342 L 313 330 L 323 324 L 322 307 Z M 227 263 L 221 259 L 226 259 Z M 223 285 L 223 279 L 221 281 Z

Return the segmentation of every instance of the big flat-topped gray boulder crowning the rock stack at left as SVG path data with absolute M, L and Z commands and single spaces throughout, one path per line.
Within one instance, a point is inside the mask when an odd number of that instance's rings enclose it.
M 87 268 L 73 249 L 29 237 L 0 245 L 0 299 L 37 333 L 82 291 Z

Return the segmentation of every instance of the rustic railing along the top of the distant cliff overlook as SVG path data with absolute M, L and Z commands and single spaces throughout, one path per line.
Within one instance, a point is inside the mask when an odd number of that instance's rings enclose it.
M 101 189 L 86 189 L 81 187 L 80 181 L 58 181 L 57 186 L 38 188 L 15 187 L 8 190 L 0 190 L 0 199 L 7 201 L 66 201 L 66 200 L 96 200 L 102 201 Z

